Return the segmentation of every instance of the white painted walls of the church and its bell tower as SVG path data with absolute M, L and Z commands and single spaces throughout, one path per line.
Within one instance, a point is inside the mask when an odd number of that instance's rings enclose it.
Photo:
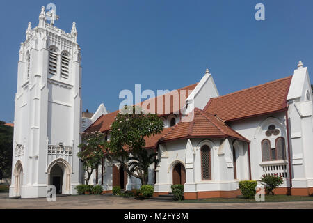
M 52 60 L 55 59 L 52 67 L 51 55 Z M 65 62 L 63 55 L 66 55 Z M 100 105 L 93 117 L 86 119 L 81 126 L 80 63 L 76 25 L 73 23 L 71 33 L 65 33 L 46 23 L 45 8 L 42 8 L 38 26 L 32 29 L 29 23 L 26 40 L 19 51 L 10 197 L 45 197 L 47 185 L 56 184 L 55 180 L 60 181 L 57 192 L 75 194 L 74 187 L 83 183 L 84 172 L 77 157 L 80 132 L 107 112 L 104 105 Z M 204 109 L 210 98 L 218 95 L 213 77 L 207 70 L 186 99 L 187 114 L 194 107 Z M 238 190 L 240 180 L 249 180 L 250 176 L 252 180 L 259 180 L 262 174 L 282 174 L 282 187 L 291 187 L 291 190 L 313 188 L 312 97 L 307 68 L 299 63 L 287 96 L 287 112 L 228 123 L 250 144 L 230 138 L 210 137 L 159 144 L 159 163 L 156 169 L 151 165 L 149 183 L 156 182 L 155 192 L 170 192 L 173 169 L 175 164 L 180 163 L 185 169 L 186 193 L 234 192 Z M 170 127 L 172 118 L 176 123 L 182 121 L 179 115 L 164 116 L 166 128 Z M 270 125 L 279 130 L 275 137 L 265 134 Z M 273 147 L 278 137 L 285 140 L 285 159 L 263 162 L 262 140 L 268 139 Z M 210 180 L 203 180 L 201 174 L 200 151 L 204 145 L 210 148 Z M 115 165 L 120 169 L 118 164 Z M 98 182 L 103 181 L 104 190 L 112 190 L 113 164 L 105 161 L 104 168 L 100 166 L 98 172 Z M 95 184 L 95 172 L 89 183 Z M 126 190 L 138 187 L 140 180 L 128 177 Z

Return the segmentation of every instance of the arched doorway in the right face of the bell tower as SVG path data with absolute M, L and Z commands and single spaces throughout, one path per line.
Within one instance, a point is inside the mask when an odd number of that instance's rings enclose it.
M 70 164 L 59 158 L 49 164 L 48 172 L 48 185 L 56 187 L 57 194 L 70 194 L 70 176 L 72 168 Z

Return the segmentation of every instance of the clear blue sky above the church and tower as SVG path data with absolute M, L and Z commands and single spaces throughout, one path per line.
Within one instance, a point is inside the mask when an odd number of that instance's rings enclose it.
M 122 89 L 178 89 L 205 68 L 220 95 L 313 69 L 313 1 L 111 0 L 2 1 L 0 120 L 13 121 L 19 44 L 41 6 L 55 3 L 56 26 L 77 22 L 83 110 L 104 102 L 113 112 Z M 265 21 L 255 20 L 264 3 Z M 313 72 L 313 71 L 312 71 Z

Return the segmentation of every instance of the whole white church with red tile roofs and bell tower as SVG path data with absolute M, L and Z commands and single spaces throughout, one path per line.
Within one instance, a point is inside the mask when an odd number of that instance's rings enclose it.
M 82 119 L 76 25 L 65 33 L 51 14 L 48 24 L 42 8 L 38 26 L 29 24 L 19 51 L 10 197 L 45 197 L 49 184 L 59 193 L 76 194 L 84 176 L 77 157 L 82 130 L 104 132 L 109 140 L 120 112 L 108 113 L 100 105 Z M 208 69 L 199 79 L 177 90 L 178 107 L 172 106 L 172 92 L 158 97 L 164 129 L 145 139 L 145 149 L 158 154 L 159 162 L 149 169 L 155 196 L 182 184 L 185 199 L 236 197 L 239 181 L 263 174 L 284 179 L 275 194 L 313 194 L 313 95 L 303 63 L 288 77 L 227 95 L 219 95 Z M 141 186 L 107 160 L 97 174 L 89 183 L 102 185 L 104 193 L 118 185 Z

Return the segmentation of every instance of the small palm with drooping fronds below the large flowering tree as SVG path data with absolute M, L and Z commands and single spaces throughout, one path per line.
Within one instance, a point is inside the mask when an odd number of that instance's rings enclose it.
M 140 176 L 141 185 L 147 185 L 149 167 L 156 162 L 157 153 L 148 154 L 147 150 L 141 149 L 132 154 L 133 156 L 128 158 L 129 171 L 135 172 Z

